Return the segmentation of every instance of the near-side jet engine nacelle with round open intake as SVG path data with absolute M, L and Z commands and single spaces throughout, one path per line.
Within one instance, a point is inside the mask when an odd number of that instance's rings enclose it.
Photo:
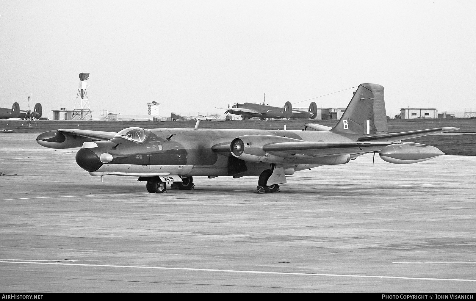
M 233 156 L 255 163 L 287 163 L 290 160 L 263 151 L 263 146 L 274 142 L 301 141 L 297 139 L 271 135 L 244 135 L 231 141 L 230 149 Z

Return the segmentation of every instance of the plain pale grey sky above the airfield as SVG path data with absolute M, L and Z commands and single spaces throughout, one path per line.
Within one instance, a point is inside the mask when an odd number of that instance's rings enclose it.
M 475 1 L 0 1 L 0 106 L 224 113 L 377 83 L 403 107 L 476 110 Z M 346 107 L 352 90 L 317 98 Z M 295 107 L 307 107 L 310 101 Z

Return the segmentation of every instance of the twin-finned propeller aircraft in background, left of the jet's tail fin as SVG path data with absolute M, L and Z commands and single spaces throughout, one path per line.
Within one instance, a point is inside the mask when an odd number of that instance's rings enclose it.
M 230 114 L 241 115 L 243 120 L 250 119 L 251 117 L 259 117 L 261 118 L 261 120 L 264 120 L 267 118 L 314 119 L 317 116 L 317 105 L 315 102 L 311 102 L 311 104 L 309 105 L 309 109 L 307 111 L 306 109 L 304 110 L 293 109 L 293 106 L 290 101 L 286 101 L 283 108 L 272 107 L 272 106 L 258 104 L 258 103 L 245 102 L 245 103 L 237 103 L 231 106 L 231 108 L 229 108 L 229 104 L 228 104 L 228 109 L 224 109 L 224 108 L 217 108 L 217 109 L 227 110 L 225 113 L 229 112 Z

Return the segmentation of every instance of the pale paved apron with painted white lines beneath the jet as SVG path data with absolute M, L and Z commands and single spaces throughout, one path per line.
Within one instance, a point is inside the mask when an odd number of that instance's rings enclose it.
M 104 183 L 35 133 L 0 134 L 0 290 L 474 292 L 476 157 L 368 154 L 288 176 Z

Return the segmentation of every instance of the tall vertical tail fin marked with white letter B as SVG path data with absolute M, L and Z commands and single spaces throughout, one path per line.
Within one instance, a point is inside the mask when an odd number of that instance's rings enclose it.
M 388 132 L 384 87 L 377 84 L 360 84 L 344 114 L 331 131 L 360 135 Z

